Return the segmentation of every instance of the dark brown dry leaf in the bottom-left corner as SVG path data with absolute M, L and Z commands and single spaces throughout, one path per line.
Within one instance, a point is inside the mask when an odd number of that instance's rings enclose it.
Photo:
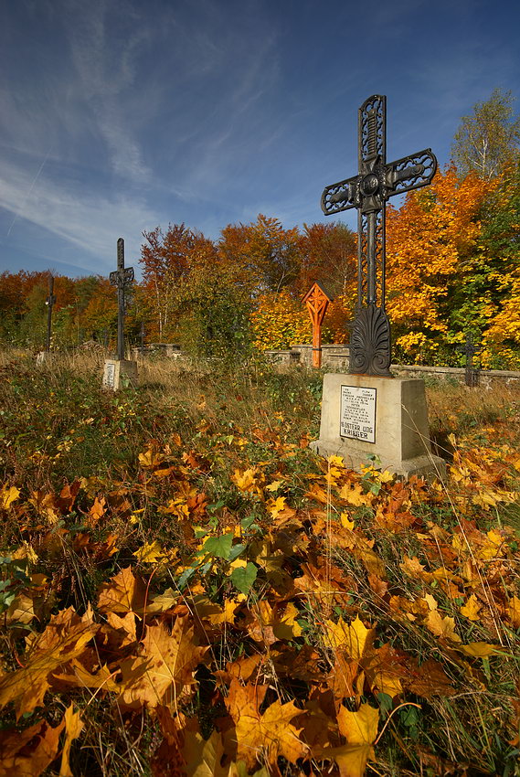
M 25 731 L 0 731 L 0 777 L 39 777 L 58 755 L 64 725 L 62 720 L 53 729 L 40 720 Z

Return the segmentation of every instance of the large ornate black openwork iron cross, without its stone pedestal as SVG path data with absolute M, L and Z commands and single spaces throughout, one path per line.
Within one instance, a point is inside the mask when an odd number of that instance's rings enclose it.
M 358 174 L 322 195 L 326 216 L 357 208 L 357 303 L 350 338 L 350 372 L 390 377 L 391 335 L 385 310 L 386 204 L 431 183 L 430 148 L 387 164 L 387 98 L 374 94 L 359 109 Z

